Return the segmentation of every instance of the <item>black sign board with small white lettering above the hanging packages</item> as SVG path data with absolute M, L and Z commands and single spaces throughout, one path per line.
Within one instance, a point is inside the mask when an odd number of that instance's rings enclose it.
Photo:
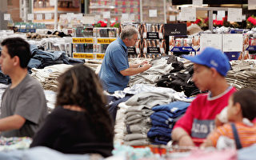
M 165 36 L 186 35 L 186 23 L 165 24 Z

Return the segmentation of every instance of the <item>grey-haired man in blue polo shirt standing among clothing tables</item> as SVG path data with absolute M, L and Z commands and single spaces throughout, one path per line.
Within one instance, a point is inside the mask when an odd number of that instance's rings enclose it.
M 122 30 L 120 38 L 117 38 L 106 48 L 106 54 L 98 75 L 104 89 L 110 94 L 126 88 L 130 75 L 141 73 L 151 66 L 146 61 L 134 65 L 129 64 L 127 46 L 134 46 L 137 39 L 138 30 L 132 26 L 126 26 Z

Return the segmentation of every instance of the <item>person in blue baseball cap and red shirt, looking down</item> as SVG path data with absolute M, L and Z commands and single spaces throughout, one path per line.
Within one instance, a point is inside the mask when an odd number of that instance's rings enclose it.
M 228 105 L 230 95 L 236 90 L 226 82 L 230 62 L 221 50 L 207 47 L 196 56 L 184 55 L 194 62 L 193 82 L 199 90 L 186 114 L 176 122 L 171 137 L 179 146 L 198 146 L 214 130 L 214 118 Z

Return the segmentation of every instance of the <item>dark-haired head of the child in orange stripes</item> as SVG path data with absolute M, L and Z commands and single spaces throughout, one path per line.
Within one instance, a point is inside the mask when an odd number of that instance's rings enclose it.
M 230 122 L 238 118 L 248 118 L 252 121 L 256 117 L 256 91 L 242 89 L 235 92 L 229 99 L 227 117 Z

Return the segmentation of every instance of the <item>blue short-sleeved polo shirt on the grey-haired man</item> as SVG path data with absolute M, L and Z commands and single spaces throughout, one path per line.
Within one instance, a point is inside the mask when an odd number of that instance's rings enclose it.
M 129 76 L 123 76 L 120 71 L 129 68 L 127 47 L 121 38 L 117 38 L 106 48 L 99 78 L 104 90 L 113 93 L 123 90 L 129 82 Z

